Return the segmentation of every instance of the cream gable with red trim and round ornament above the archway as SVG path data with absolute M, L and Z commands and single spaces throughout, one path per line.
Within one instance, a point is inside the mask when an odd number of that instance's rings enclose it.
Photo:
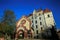
M 26 17 L 23 16 L 18 22 L 16 27 L 25 27 L 27 30 L 30 30 L 31 21 Z

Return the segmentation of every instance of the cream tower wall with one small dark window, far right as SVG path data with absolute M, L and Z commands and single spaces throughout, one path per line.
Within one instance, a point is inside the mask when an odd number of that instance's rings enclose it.
M 54 26 L 55 22 L 54 22 L 52 12 L 44 13 L 44 16 L 45 16 L 45 22 L 46 22 L 47 27 Z

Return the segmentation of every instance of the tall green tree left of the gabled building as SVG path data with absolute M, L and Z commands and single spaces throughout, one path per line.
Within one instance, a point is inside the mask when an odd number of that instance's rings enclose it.
M 14 12 L 11 10 L 5 10 L 2 19 L 3 32 L 9 35 L 13 34 L 16 27 L 16 17 Z

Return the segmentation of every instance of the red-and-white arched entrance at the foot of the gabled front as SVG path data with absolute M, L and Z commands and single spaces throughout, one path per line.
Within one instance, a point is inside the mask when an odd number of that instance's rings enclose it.
M 20 27 L 17 30 L 17 38 L 27 38 L 27 29 L 26 27 Z

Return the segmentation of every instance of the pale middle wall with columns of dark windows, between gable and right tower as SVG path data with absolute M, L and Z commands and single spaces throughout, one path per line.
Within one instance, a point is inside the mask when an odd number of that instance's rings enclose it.
M 39 34 L 45 26 L 43 11 L 36 12 L 36 10 L 34 10 L 29 19 L 32 21 L 31 27 L 34 28 L 34 35 Z

